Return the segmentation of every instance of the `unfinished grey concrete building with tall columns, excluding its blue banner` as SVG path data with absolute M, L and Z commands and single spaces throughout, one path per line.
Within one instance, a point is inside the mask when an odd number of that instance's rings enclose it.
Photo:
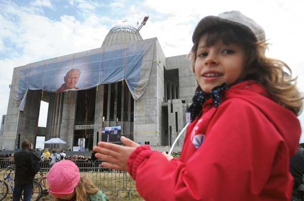
M 141 39 L 138 32 L 135 36 L 128 31 L 120 34 L 119 30 L 113 34 L 107 35 L 104 44 L 120 44 L 119 41 L 113 43 L 115 38 L 124 44 Z M 128 38 L 120 38 L 124 35 Z M 97 49 L 79 54 L 90 51 Z M 153 64 L 147 88 L 137 101 L 122 81 L 83 91 L 28 90 L 25 110 L 21 112 L 12 97 L 18 87 L 14 70 L 7 114 L 2 117 L 0 146 L 5 144 L 7 150 L 13 150 L 24 139 L 34 143 L 36 136 L 46 136 L 46 140 L 61 138 L 67 143 L 62 148 L 67 150 L 77 145 L 78 138 L 86 138 L 86 148 L 91 150 L 102 140 L 104 127 L 121 126 L 122 135 L 135 142 L 167 149 L 186 124 L 185 110 L 192 103 L 196 79 L 186 55 L 166 57 L 157 39 L 154 51 L 147 54 Z M 67 57 L 70 55 L 62 58 Z M 41 101 L 49 103 L 45 129 L 37 127 Z M 182 141 L 183 137 L 176 144 L 179 150 Z

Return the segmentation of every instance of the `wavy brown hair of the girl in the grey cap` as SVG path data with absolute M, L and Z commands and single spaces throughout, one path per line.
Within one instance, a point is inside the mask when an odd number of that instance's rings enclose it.
M 248 30 L 231 24 L 206 30 L 198 37 L 191 49 L 188 58 L 191 59 L 191 68 L 195 72 L 195 61 L 200 38 L 204 36 L 206 45 L 215 45 L 218 41 L 223 44 L 238 44 L 245 51 L 244 79 L 253 79 L 260 83 L 272 99 L 283 107 L 299 115 L 302 110 L 302 95 L 296 88 L 296 77 L 292 78 L 292 71 L 283 61 L 265 56 L 268 44 L 265 41 L 256 42 Z M 286 72 L 287 71 L 287 72 Z M 201 90 L 200 86 L 196 91 Z

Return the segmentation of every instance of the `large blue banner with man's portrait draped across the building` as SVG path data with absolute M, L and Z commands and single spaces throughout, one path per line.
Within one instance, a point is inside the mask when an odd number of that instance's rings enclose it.
M 64 92 L 126 81 L 135 100 L 144 93 L 157 38 L 93 49 L 27 64 L 15 69 L 14 98 L 24 111 L 27 90 Z

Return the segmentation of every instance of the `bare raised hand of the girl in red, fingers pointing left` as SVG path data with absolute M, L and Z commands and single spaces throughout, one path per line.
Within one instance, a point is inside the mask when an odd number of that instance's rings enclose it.
M 108 142 L 98 142 L 98 146 L 93 147 L 93 151 L 97 152 L 95 156 L 104 161 L 101 164 L 103 167 L 128 171 L 129 156 L 139 144 L 125 137 L 121 137 L 121 141 L 126 146 Z

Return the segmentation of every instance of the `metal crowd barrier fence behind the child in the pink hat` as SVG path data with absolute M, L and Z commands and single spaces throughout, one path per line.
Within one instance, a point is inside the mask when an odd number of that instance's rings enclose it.
M 113 171 L 101 166 L 102 160 L 72 160 L 79 168 L 80 174 L 89 178 L 96 184 L 99 189 L 103 192 L 107 191 L 117 191 L 118 196 L 120 191 L 137 191 L 135 182 L 127 172 L 122 171 Z M 49 172 L 53 164 L 49 162 L 40 162 L 41 164 L 41 173 L 45 175 Z M 15 162 L 12 158 L 0 158 L 0 180 L 4 179 L 8 174 L 8 167 L 15 169 Z M 15 176 L 15 171 L 11 173 Z M 35 176 L 37 182 L 42 180 L 42 174 L 38 173 Z M 42 186 L 43 189 L 47 188 L 47 181 L 45 179 L 46 186 Z M 9 188 L 9 193 L 12 193 Z M 119 197 L 118 197 L 119 198 Z

